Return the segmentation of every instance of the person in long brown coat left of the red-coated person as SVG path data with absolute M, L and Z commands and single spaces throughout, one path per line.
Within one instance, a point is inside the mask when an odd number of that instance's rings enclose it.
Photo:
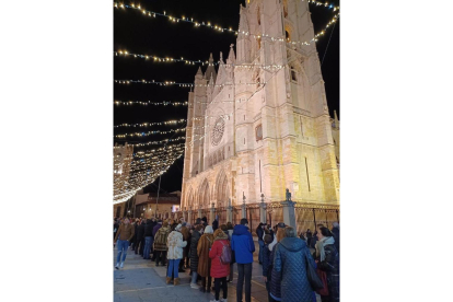
M 200 237 L 197 245 L 197 255 L 198 255 L 198 275 L 202 278 L 201 279 L 201 288 L 200 291 L 202 292 L 211 292 L 211 259 L 209 258 L 209 249 L 213 244 L 213 235 L 212 235 L 212 226 L 208 225 L 205 229 L 205 234 Z M 206 283 L 206 279 L 208 279 L 208 283 Z

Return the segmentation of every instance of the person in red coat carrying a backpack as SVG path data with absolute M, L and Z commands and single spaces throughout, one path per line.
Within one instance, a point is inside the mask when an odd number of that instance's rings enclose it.
M 228 235 L 221 229 L 216 230 L 213 239 L 214 242 L 209 251 L 209 258 L 211 258 L 211 277 L 214 278 L 216 300 L 210 302 L 226 302 L 226 276 L 230 275 L 231 246 Z M 220 284 L 223 291 L 223 299 L 221 300 L 219 300 Z

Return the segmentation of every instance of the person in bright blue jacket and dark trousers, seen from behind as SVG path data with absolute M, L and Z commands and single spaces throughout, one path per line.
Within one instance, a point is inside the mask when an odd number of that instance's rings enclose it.
M 237 288 L 236 301 L 242 302 L 242 290 L 245 281 L 245 301 L 252 300 L 252 264 L 255 243 L 252 233 L 248 231 L 248 220 L 241 219 L 241 224 L 234 226 L 231 239 L 231 249 L 234 252 L 237 263 Z

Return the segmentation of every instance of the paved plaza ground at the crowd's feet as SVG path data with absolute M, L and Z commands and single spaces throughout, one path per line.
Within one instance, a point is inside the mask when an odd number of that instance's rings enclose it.
M 254 264 L 252 269 L 252 302 L 267 302 L 266 286 L 263 281 L 263 269 L 258 264 L 258 244 L 255 242 Z M 114 301 L 115 302 L 191 302 L 214 300 L 214 293 L 202 293 L 191 289 L 190 270 L 179 272 L 181 284 L 165 284 L 166 267 L 144 260 L 140 255 L 128 251 L 125 267 L 115 269 L 117 249 L 114 249 Z M 236 301 L 237 267 L 234 265 L 233 282 L 229 283 L 228 301 Z M 213 284 L 213 280 L 212 280 Z M 245 288 L 244 288 L 245 290 Z M 222 291 L 220 291 L 222 297 Z M 243 298 L 245 301 L 245 297 Z M 318 299 L 318 301 L 321 301 Z

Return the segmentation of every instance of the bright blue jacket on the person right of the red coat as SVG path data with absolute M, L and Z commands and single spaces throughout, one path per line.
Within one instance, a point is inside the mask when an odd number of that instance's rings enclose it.
M 255 244 L 253 242 L 252 233 L 248 232 L 247 226 L 243 224 L 234 225 L 233 236 L 231 239 L 231 249 L 234 251 L 236 263 L 253 263 L 253 252 L 255 252 Z

